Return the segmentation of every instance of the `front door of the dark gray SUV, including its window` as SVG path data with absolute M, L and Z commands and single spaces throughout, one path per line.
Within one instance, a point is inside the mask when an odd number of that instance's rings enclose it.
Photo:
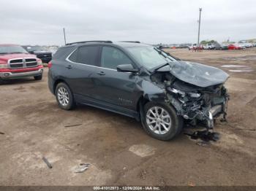
M 97 98 L 110 107 L 135 111 L 138 97 L 138 74 L 116 70 L 120 64 L 132 64 L 127 55 L 116 47 L 103 46 L 101 69 L 95 81 Z M 129 112 L 129 111 L 127 111 Z

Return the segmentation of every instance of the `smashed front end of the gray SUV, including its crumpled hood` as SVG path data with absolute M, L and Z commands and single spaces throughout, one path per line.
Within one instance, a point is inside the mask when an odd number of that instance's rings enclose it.
M 221 69 L 189 61 L 173 61 L 152 72 L 151 80 L 165 90 L 165 103 L 174 106 L 186 122 L 214 128 L 214 118 L 227 112 L 224 87 L 228 74 Z

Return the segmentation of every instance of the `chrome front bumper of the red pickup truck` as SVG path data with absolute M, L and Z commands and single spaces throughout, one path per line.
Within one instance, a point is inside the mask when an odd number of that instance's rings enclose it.
M 43 69 L 37 69 L 35 71 L 23 71 L 12 73 L 10 71 L 0 72 L 1 79 L 17 79 L 22 77 L 34 77 L 42 75 Z

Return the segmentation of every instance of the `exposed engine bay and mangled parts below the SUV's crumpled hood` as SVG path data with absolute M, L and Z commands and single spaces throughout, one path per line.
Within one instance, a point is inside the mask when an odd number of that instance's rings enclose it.
M 181 81 L 170 71 L 156 71 L 151 80 L 165 89 L 165 102 L 191 125 L 203 122 L 209 130 L 214 128 L 214 118 L 222 115 L 225 120 L 229 95 L 224 83 L 200 87 Z

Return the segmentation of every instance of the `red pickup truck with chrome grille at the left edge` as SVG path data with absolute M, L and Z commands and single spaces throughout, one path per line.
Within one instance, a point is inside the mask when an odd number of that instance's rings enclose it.
M 0 44 L 0 84 L 7 79 L 34 77 L 42 79 L 42 61 L 23 47 Z

